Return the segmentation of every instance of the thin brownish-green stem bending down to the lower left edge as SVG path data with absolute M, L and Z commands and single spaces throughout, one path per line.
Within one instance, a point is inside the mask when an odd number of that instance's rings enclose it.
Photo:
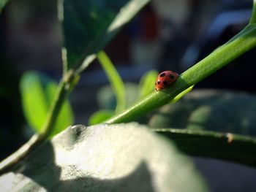
M 67 81 L 61 80 L 56 92 L 56 96 L 53 99 L 53 103 L 51 104 L 45 126 L 42 128 L 42 132 L 40 134 L 34 134 L 31 139 L 29 139 L 29 141 L 21 146 L 15 153 L 12 153 L 12 155 L 4 159 L 4 161 L 1 161 L 0 174 L 3 174 L 8 169 L 10 169 L 14 164 L 16 164 L 32 149 L 34 149 L 34 147 L 41 144 L 43 141 L 45 141 L 45 139 L 48 138 L 53 129 L 54 123 L 56 123 L 58 114 L 61 110 L 61 106 L 69 93 L 70 82 L 72 82 L 72 78 L 68 78 Z

